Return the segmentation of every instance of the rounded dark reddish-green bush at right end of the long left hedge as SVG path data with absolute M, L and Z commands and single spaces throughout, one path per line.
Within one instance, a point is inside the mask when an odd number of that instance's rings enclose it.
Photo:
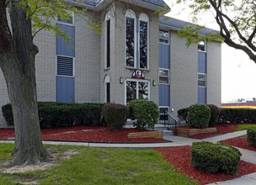
M 128 108 L 123 104 L 107 103 L 103 107 L 104 119 L 111 129 L 121 129 L 126 122 Z

